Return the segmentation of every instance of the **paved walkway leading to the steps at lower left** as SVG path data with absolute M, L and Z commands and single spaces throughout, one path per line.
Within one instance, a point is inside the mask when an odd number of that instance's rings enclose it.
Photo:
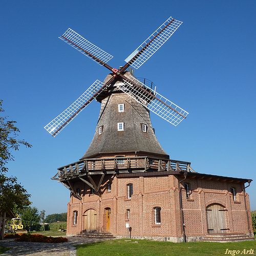
M 30 243 L 15 242 L 14 239 L 0 240 L 0 246 L 10 247 L 3 256 L 10 255 L 33 255 L 33 256 L 75 256 L 75 245 L 100 242 L 106 239 L 83 238 L 83 237 L 67 237 L 68 242 L 65 243 Z

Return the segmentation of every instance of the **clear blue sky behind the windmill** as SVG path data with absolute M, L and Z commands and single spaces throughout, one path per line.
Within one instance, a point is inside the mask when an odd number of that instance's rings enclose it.
M 118 68 L 169 16 L 183 24 L 135 71 L 189 112 L 177 127 L 152 114 L 172 159 L 199 173 L 254 179 L 256 209 L 256 2 L 12 1 L 0 3 L 0 72 L 5 114 L 17 121 L 20 148 L 9 174 L 46 214 L 67 211 L 69 191 L 50 178 L 77 161 L 93 137 L 100 104 L 92 102 L 56 138 L 44 126 L 108 70 L 58 39 L 72 28 L 112 54 Z

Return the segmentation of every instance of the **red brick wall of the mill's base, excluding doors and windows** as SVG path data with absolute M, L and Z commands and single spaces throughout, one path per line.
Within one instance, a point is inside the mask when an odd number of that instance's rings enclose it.
M 159 173 L 160 174 L 160 173 Z M 94 179 L 95 176 L 92 176 Z M 100 177 L 95 179 L 98 184 Z M 83 215 L 88 209 L 97 212 L 97 228 L 105 229 L 105 208 L 111 208 L 110 232 L 115 236 L 126 236 L 125 223 L 132 227 L 135 237 L 182 237 L 181 212 L 179 204 L 179 180 L 177 175 L 117 178 L 106 175 L 101 185 L 102 195 L 90 194 L 90 187 L 81 182 L 74 184 L 81 190 L 82 200 L 71 196 L 68 204 L 67 234 L 78 234 L 83 230 Z M 112 181 L 111 192 L 106 183 Z M 189 179 L 190 195 L 182 189 L 182 203 L 186 236 L 202 236 L 208 233 L 206 207 L 212 203 L 225 207 L 227 232 L 248 233 L 247 216 L 244 205 L 243 185 L 205 179 Z M 127 199 L 127 184 L 133 184 L 133 195 Z M 183 184 L 183 183 L 182 183 Z M 183 185 L 181 185 L 183 188 Z M 237 202 L 233 201 L 230 187 L 237 190 Z M 246 194 L 247 209 L 249 198 Z M 154 223 L 154 207 L 161 207 L 161 225 Z M 126 219 L 126 209 L 130 209 L 130 220 Z M 73 211 L 78 211 L 77 225 L 72 223 Z M 250 217 L 249 217 L 250 218 Z M 250 220 L 251 225 L 251 220 Z M 250 226 L 252 230 L 252 226 Z

